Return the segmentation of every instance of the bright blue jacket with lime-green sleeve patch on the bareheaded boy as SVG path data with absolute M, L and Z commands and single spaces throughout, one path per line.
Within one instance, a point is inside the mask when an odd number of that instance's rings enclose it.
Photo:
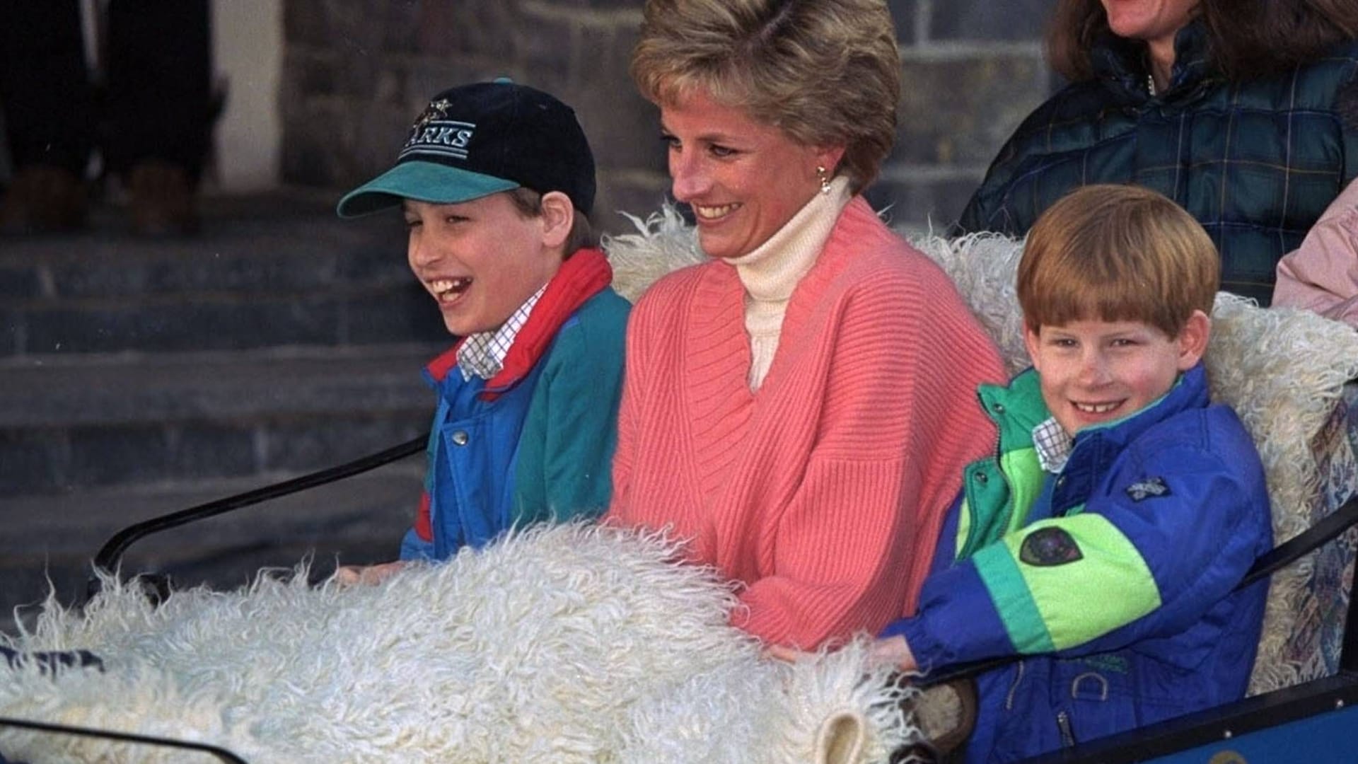
M 921 670 L 998 657 L 978 677 L 968 761 L 1012 761 L 1244 695 L 1267 583 L 1232 594 L 1272 545 L 1268 495 L 1236 413 L 1199 363 L 1127 419 L 1038 464 L 1035 371 L 980 400 L 997 454 L 967 468 L 904 635 Z

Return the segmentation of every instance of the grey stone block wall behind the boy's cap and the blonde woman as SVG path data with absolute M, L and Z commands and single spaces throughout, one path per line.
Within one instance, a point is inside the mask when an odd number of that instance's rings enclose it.
M 869 189 L 898 226 L 944 226 L 1050 92 L 1052 0 L 891 0 L 904 97 L 896 150 Z M 383 170 L 429 95 L 507 75 L 573 105 L 595 148 L 595 219 L 668 189 L 656 109 L 627 77 L 641 0 L 285 0 L 287 182 L 346 188 Z

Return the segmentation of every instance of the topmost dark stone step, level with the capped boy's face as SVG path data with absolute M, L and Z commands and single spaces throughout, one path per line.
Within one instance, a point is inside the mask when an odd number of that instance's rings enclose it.
M 0 358 L 367 345 L 445 337 L 398 215 L 340 220 L 334 194 L 204 200 L 204 231 L 0 239 Z

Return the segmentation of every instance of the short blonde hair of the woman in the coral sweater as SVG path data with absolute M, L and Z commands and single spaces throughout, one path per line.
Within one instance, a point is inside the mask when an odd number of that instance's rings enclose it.
M 631 52 L 641 95 L 703 90 L 803 145 L 843 145 L 857 192 L 896 139 L 900 53 L 883 0 L 648 0 Z

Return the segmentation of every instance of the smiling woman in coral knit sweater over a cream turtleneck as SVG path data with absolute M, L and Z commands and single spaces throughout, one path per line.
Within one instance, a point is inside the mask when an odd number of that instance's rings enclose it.
M 627 329 L 608 521 L 740 585 L 736 625 L 815 648 L 914 610 L 998 355 L 858 196 L 895 137 L 881 0 L 649 0 L 631 73 L 708 262 Z

